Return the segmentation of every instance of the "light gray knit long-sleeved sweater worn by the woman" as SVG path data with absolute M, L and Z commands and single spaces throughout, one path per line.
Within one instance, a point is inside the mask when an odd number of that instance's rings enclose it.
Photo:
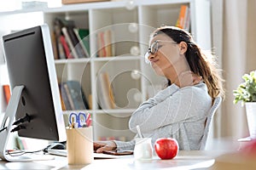
M 199 150 L 211 106 L 205 83 L 185 88 L 172 84 L 143 102 L 132 113 L 129 127 L 137 133 L 139 125 L 143 137 L 152 138 L 152 144 L 156 139 L 171 137 L 177 139 L 179 150 Z M 135 139 L 114 142 L 118 149 L 133 150 Z

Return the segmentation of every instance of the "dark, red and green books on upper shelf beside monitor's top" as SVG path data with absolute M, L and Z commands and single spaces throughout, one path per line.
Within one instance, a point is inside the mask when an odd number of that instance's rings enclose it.
M 77 28 L 73 20 L 55 18 L 53 35 L 55 59 L 90 57 L 89 30 Z

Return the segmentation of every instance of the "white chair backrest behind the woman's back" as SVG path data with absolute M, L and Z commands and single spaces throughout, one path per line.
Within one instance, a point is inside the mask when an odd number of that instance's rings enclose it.
M 221 101 L 222 101 L 222 98 L 220 96 L 215 98 L 213 101 L 212 108 L 210 109 L 208 116 L 207 116 L 206 127 L 205 127 L 205 131 L 204 131 L 204 135 L 201 139 L 200 150 L 205 150 L 205 148 L 206 148 L 207 138 L 208 138 L 208 133 L 209 133 L 209 128 L 210 128 L 210 125 L 212 122 L 212 118 L 213 118 L 215 112 L 217 111 L 219 105 L 221 104 Z

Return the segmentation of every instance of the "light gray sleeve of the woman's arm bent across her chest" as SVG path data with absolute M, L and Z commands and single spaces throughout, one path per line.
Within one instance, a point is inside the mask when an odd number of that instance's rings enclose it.
M 137 133 L 137 125 L 142 133 L 152 133 L 155 129 L 176 122 L 186 122 L 193 102 L 193 88 L 178 88 L 175 84 L 165 88 L 139 106 L 131 115 L 129 127 Z M 196 94 L 198 95 L 198 94 Z

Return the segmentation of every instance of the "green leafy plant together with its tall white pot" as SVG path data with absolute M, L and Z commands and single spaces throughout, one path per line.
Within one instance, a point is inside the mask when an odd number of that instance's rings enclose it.
M 241 101 L 245 105 L 250 138 L 256 139 L 256 71 L 243 75 L 242 79 L 244 82 L 233 91 L 234 104 Z

